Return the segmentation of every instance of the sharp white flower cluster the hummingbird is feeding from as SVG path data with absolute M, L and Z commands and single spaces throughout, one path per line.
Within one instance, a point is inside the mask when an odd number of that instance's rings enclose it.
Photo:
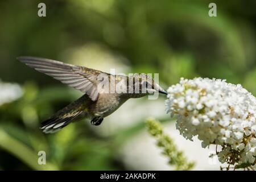
M 220 144 L 220 162 L 255 164 L 256 98 L 241 85 L 225 80 L 181 78 L 167 90 L 167 112 L 178 114 L 183 137 L 197 136 L 202 147 Z

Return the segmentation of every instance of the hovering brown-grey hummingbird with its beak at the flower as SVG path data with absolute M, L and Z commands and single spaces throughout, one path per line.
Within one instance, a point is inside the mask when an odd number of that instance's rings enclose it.
M 21 56 L 17 57 L 17 59 L 29 67 L 34 68 L 36 71 L 51 76 L 85 93 L 78 100 L 71 102 L 71 104 L 65 106 L 53 114 L 52 117 L 42 122 L 40 129 L 42 129 L 43 133 L 55 133 L 69 125 L 69 123 L 84 118 L 90 119 L 92 125 L 98 126 L 105 117 L 112 114 L 130 98 L 140 98 L 154 92 L 167 94 L 148 75 L 111 75 L 96 69 L 40 57 Z M 105 82 L 110 81 L 110 88 L 105 85 L 105 88 L 99 86 L 102 84 L 102 78 L 104 78 Z M 111 81 L 113 78 L 114 80 Z M 126 86 L 130 80 L 132 84 Z M 115 88 L 118 84 L 122 88 L 125 88 L 127 92 L 111 92 L 111 86 L 114 85 Z M 134 91 L 136 84 L 139 85 L 139 92 L 129 92 L 130 90 Z M 146 92 L 142 92 L 142 85 L 146 85 Z

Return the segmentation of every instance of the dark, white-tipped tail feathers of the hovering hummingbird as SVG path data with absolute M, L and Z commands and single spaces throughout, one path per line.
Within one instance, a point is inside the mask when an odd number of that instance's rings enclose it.
M 84 97 L 81 97 L 79 100 L 72 102 L 68 106 L 57 111 L 57 113 L 52 115 L 51 118 L 42 122 L 40 129 L 43 130 L 43 133 L 55 133 L 67 126 L 69 123 L 84 117 L 86 112 L 81 103 L 83 98 Z

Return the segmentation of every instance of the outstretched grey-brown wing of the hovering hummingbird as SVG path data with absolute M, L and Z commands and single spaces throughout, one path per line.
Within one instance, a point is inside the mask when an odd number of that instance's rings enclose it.
M 108 75 L 108 73 L 95 69 L 39 57 L 22 56 L 17 59 L 29 67 L 36 69 L 36 71 L 49 75 L 64 84 L 68 84 L 86 93 L 92 101 L 96 101 L 98 98 L 97 76 L 101 73 Z

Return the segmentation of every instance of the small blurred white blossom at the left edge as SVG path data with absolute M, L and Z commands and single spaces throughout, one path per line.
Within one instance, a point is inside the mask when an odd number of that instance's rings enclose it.
M 2 82 L 0 80 L 0 106 L 13 102 L 23 95 L 23 90 L 18 84 Z

